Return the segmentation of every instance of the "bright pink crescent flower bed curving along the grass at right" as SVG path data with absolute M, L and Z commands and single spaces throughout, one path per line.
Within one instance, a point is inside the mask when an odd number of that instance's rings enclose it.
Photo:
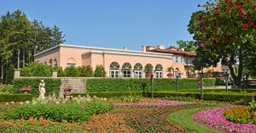
M 256 133 L 256 125 L 239 124 L 227 120 L 223 112 L 230 107 L 211 108 L 199 111 L 191 116 L 201 125 L 208 126 L 214 130 L 225 132 Z

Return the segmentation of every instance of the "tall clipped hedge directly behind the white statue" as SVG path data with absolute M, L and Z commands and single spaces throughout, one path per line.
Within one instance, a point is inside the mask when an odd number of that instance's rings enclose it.
M 32 78 L 27 78 L 27 79 L 15 79 L 14 80 L 14 92 L 15 93 L 20 93 L 20 88 L 22 87 L 28 87 L 30 86 L 32 88 L 32 95 L 39 95 L 39 83 L 41 82 L 42 79 L 32 79 Z M 46 96 L 51 94 L 52 92 L 55 92 L 56 96 L 58 96 L 60 87 L 61 87 L 61 79 L 52 79 L 52 78 L 44 78 L 44 83 L 45 83 L 45 91 L 46 91 Z

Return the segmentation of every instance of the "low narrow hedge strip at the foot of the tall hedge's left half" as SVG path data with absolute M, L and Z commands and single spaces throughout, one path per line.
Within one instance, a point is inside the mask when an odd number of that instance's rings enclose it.
M 72 93 L 71 95 L 73 97 L 80 96 L 87 96 L 90 95 L 90 97 L 96 96 L 96 97 L 122 97 L 122 96 L 142 96 L 143 92 L 141 91 L 132 91 L 132 92 L 124 92 L 124 91 L 113 91 L 113 92 L 89 92 L 89 93 Z

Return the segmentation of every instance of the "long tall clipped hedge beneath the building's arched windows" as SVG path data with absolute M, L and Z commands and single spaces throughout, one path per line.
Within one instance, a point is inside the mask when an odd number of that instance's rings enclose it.
M 214 86 L 215 79 L 203 79 L 204 86 Z M 193 90 L 199 88 L 197 79 L 179 79 L 179 90 Z M 88 92 L 102 91 L 145 91 L 150 90 L 149 79 L 124 79 L 124 78 L 102 78 L 87 79 L 86 90 Z M 154 91 L 176 90 L 176 80 L 174 79 L 154 79 Z

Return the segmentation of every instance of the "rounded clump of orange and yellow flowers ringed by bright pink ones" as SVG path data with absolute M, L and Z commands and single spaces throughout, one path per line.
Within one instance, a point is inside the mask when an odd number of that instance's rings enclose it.
M 245 106 L 237 106 L 224 110 L 224 116 L 230 121 L 241 124 L 254 124 L 256 125 L 256 116 L 250 112 L 249 108 Z

